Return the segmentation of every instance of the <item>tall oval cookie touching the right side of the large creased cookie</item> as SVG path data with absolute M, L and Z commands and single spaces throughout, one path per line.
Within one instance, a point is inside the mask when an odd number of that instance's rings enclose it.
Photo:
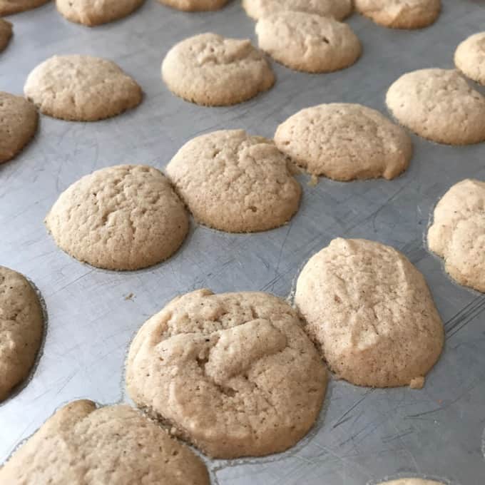
M 295 304 L 340 379 L 371 387 L 422 387 L 444 331 L 422 274 L 394 248 L 337 238 L 312 256 Z

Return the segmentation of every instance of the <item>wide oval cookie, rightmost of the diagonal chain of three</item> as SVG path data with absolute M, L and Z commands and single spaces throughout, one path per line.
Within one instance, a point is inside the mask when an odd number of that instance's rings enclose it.
M 299 111 L 278 126 L 275 143 L 309 173 L 335 180 L 392 179 L 406 170 L 413 152 L 401 127 L 379 111 L 349 103 Z

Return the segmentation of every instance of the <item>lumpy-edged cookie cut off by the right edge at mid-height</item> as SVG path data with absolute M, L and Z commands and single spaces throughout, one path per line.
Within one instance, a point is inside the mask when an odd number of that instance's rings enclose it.
M 444 258 L 449 275 L 485 292 L 485 182 L 461 180 L 434 209 L 429 249 Z

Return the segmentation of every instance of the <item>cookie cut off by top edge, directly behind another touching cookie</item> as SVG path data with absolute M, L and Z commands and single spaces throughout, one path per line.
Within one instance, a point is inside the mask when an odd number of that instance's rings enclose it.
M 352 13 L 352 0 L 242 0 L 242 8 L 253 19 L 282 10 L 303 11 L 343 20 Z

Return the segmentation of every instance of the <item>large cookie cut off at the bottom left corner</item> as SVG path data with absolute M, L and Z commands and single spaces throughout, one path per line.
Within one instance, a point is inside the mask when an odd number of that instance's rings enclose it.
M 187 446 L 126 405 L 59 409 L 0 468 L 2 484 L 209 485 Z

